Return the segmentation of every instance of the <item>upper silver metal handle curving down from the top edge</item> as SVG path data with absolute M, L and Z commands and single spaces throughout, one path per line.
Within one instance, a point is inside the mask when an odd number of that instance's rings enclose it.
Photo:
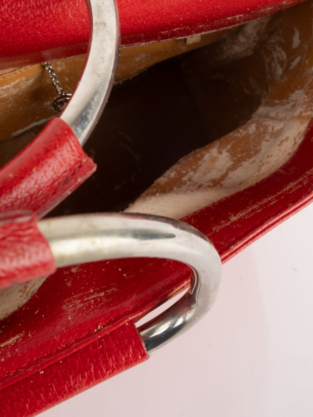
M 86 0 L 91 35 L 83 74 L 61 113 L 83 144 L 109 98 L 119 59 L 119 15 L 114 0 Z

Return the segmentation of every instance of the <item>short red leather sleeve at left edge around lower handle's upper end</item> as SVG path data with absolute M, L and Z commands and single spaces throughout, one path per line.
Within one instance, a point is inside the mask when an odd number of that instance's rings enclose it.
M 56 269 L 36 216 L 29 212 L 0 214 L 0 288 L 40 278 Z

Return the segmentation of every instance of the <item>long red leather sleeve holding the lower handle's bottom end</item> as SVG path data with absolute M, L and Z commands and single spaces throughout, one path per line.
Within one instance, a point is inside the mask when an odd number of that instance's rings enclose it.
M 29 417 L 148 359 L 133 323 L 0 392 L 3 417 Z

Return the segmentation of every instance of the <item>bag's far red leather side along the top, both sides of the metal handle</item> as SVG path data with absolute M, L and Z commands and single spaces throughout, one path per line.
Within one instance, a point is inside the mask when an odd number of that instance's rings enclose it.
M 182 38 L 237 25 L 303 0 L 118 0 L 121 43 Z M 84 0 L 6 0 L 0 4 L 0 69 L 86 52 Z

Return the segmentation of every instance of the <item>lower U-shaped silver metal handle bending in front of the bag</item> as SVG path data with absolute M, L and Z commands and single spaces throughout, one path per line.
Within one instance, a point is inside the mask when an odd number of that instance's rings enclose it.
M 210 310 L 221 277 L 220 256 L 194 227 L 144 214 L 83 214 L 41 220 L 56 266 L 104 259 L 174 259 L 192 268 L 190 289 L 173 306 L 139 328 L 149 353 L 186 332 Z

